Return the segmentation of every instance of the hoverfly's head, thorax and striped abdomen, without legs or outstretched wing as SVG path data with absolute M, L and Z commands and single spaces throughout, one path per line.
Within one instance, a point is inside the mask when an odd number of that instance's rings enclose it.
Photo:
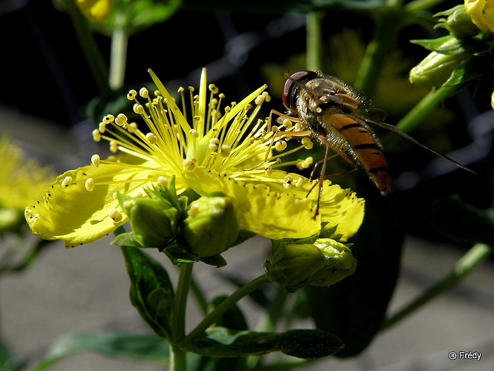
M 290 114 L 301 118 L 323 145 L 355 169 L 363 167 L 380 193 L 390 192 L 392 181 L 380 143 L 359 112 L 361 98 L 332 76 L 322 77 L 312 71 L 299 74 L 298 78 L 292 75 L 287 80 L 289 86 L 285 85 L 289 99 L 284 103 Z

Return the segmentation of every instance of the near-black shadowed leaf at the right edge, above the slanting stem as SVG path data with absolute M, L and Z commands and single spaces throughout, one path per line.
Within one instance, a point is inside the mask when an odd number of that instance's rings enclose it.
M 494 246 L 494 208 L 478 209 L 454 195 L 433 205 L 432 224 L 446 236 L 466 243 Z

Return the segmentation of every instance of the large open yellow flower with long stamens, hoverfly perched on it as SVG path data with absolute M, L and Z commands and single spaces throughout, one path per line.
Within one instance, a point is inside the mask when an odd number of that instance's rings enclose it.
M 145 88 L 128 94 L 146 129 L 129 123 L 123 114 L 105 116 L 93 138 L 107 140 L 112 152 L 123 153 L 106 160 L 95 154 L 91 165 L 59 176 L 47 195 L 25 210 L 37 236 L 61 239 L 66 247 L 102 238 L 127 221 L 117 191 L 145 197 L 143 188 L 171 176 L 176 177 L 177 194 L 192 188 L 200 195 L 222 192 L 232 197 L 240 225 L 268 238 L 311 236 L 318 233 L 321 221 L 337 224 L 344 238 L 359 229 L 363 200 L 351 190 L 325 181 L 320 214 L 313 218 L 317 190 L 306 197 L 312 187 L 307 178 L 277 169 L 294 164 L 281 163 L 280 157 L 312 143 L 304 138 L 294 150 L 278 153 L 288 138 L 273 140 L 273 132 L 266 133 L 267 119 L 254 121 L 261 104 L 270 99 L 263 92 L 266 85 L 238 104 L 220 109 L 224 95 L 215 85 L 207 85 L 203 70 L 198 95 L 189 88 L 191 107 L 186 107 L 183 89 L 179 90 L 180 110 L 156 75 L 150 74 L 158 88 L 155 98 Z M 276 128 L 302 130 L 287 122 Z M 264 162 L 271 144 L 276 154 L 270 152 Z M 311 161 L 296 163 L 306 167 Z

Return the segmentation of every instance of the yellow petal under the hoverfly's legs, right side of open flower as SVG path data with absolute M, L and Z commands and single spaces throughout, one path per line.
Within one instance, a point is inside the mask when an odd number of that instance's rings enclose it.
M 296 180 L 298 174 L 289 174 Z M 320 214 L 313 219 L 318 197 L 317 188 L 306 197 L 312 184 L 285 189 L 284 171 L 272 171 L 270 176 L 259 174 L 217 174 L 199 167 L 184 172 L 182 177 L 200 195 L 221 191 L 234 197 L 241 226 L 272 239 L 303 238 L 318 233 L 321 221 L 338 224 L 337 233 L 344 240 L 359 229 L 363 219 L 363 199 L 351 190 L 325 181 Z M 307 180 L 306 180 L 307 181 Z

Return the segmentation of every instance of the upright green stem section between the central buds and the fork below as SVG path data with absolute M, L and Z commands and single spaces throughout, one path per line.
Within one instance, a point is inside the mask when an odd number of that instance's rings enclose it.
M 171 312 L 171 342 L 180 344 L 185 337 L 185 319 L 188 288 L 191 286 L 193 263 L 181 264 L 179 280 L 176 284 L 176 292 Z

